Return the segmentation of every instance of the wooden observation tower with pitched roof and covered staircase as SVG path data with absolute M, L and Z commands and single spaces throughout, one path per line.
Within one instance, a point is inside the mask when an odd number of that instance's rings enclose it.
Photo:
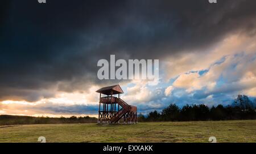
M 123 93 L 120 85 L 103 87 L 96 92 L 100 93 L 98 123 L 137 123 L 137 107 L 120 99 Z

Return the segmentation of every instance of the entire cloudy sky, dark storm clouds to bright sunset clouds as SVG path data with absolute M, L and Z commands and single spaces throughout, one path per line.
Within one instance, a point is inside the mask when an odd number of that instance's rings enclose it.
M 120 84 L 139 112 L 256 97 L 256 1 L 4 0 L 0 114 L 95 115 Z M 160 82 L 98 80 L 97 61 L 159 59 Z

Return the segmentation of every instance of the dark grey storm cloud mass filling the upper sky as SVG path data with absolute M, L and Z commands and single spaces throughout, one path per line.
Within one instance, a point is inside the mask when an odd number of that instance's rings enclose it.
M 0 99 L 51 97 L 44 91 L 57 83 L 61 91 L 100 84 L 97 61 L 110 54 L 156 59 L 208 48 L 236 31 L 254 35 L 255 6 L 253 0 L 5 1 Z

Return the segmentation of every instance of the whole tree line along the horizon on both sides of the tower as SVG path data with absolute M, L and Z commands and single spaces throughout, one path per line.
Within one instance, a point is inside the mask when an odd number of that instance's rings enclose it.
M 233 119 L 256 119 L 256 99 L 251 101 L 245 95 L 238 95 L 228 106 L 217 105 L 209 108 L 207 105 L 185 105 L 179 108 L 170 104 L 161 112 L 154 111 L 147 115 L 139 114 L 139 122 L 147 121 L 219 121 Z M 55 123 L 97 123 L 94 117 L 50 118 L 19 115 L 0 115 L 1 125 L 55 124 Z

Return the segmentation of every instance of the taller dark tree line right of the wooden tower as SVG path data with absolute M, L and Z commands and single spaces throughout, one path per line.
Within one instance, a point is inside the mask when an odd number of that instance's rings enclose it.
M 228 106 L 217 105 L 209 108 L 207 105 L 185 105 L 179 108 L 170 104 L 161 112 L 153 111 L 138 115 L 138 121 L 220 121 L 234 119 L 256 119 L 256 99 L 251 101 L 246 95 L 238 95 Z

